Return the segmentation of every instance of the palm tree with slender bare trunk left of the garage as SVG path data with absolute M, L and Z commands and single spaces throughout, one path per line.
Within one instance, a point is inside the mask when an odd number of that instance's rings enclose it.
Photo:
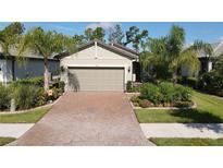
M 35 27 L 21 37 L 18 41 L 20 58 L 26 52 L 35 52 L 44 57 L 45 69 L 45 91 L 49 89 L 49 63 L 48 59 L 54 55 L 74 51 L 72 38 L 58 34 L 57 32 L 44 31 L 41 27 Z

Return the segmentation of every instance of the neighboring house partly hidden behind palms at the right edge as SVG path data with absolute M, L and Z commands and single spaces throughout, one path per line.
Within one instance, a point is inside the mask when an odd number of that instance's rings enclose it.
M 199 73 L 210 72 L 214 67 L 214 59 L 223 53 L 223 41 L 211 44 L 213 56 L 208 56 L 203 51 L 199 52 L 200 71 Z M 189 70 L 186 65 L 182 67 L 182 75 L 188 76 Z

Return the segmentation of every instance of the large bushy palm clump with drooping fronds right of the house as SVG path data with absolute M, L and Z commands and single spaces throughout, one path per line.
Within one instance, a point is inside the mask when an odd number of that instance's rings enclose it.
M 149 39 L 148 48 L 145 65 L 152 64 L 151 75 L 158 80 L 172 79 L 174 83 L 177 82 L 177 70 L 182 65 L 186 64 L 191 74 L 199 70 L 199 51 L 203 50 L 212 56 L 211 45 L 201 40 L 196 40 L 194 45 L 185 48 L 185 31 L 176 25 L 172 26 L 168 36 Z

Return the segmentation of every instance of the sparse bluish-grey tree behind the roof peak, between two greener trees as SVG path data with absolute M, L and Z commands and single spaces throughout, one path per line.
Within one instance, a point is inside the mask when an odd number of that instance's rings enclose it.
M 122 32 L 120 24 L 116 24 L 114 27 L 110 28 L 109 38 L 108 38 L 110 43 L 122 45 L 123 38 L 124 38 L 124 34 Z

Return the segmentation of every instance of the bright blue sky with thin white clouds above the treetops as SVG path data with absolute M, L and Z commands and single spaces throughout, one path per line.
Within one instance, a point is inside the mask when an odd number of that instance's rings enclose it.
M 116 22 L 117 23 L 117 22 Z M 87 27 L 103 27 L 106 31 L 113 27 L 115 22 L 24 22 L 26 31 L 34 26 L 41 26 L 45 29 L 55 29 L 66 35 L 83 34 Z M 202 39 L 208 43 L 223 40 L 223 22 L 119 22 L 123 31 L 129 26 L 138 26 L 140 29 L 148 29 L 150 37 L 160 37 L 169 33 L 173 24 L 179 25 L 186 31 L 186 43 L 191 44 L 195 39 Z M 0 22 L 0 29 L 9 23 Z

